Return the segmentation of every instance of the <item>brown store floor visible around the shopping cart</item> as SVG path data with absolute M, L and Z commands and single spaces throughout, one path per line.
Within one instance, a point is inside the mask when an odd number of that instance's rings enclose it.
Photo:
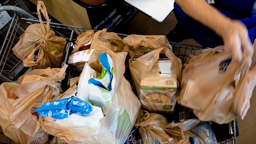
M 154 20 L 153 18 L 147 17 L 146 15 L 138 12 L 124 27 L 119 33 L 123 34 L 142 34 L 142 35 L 166 35 L 170 30 L 172 30 L 177 21 L 173 13 L 170 13 L 168 17 L 162 22 Z M 194 40 L 184 40 L 181 43 L 200 46 Z M 256 45 L 254 45 L 256 49 Z M 256 50 L 255 50 L 256 51 Z M 254 53 L 253 61 L 256 61 L 256 54 Z M 251 98 L 251 107 L 247 112 L 244 120 L 238 120 L 239 133 L 237 137 L 238 144 L 254 144 L 256 143 L 256 90 L 253 92 Z M 1 129 L 0 129 L 1 132 Z M 6 136 L 0 134 L 0 142 L 8 142 Z M 13 141 L 11 143 L 14 143 Z

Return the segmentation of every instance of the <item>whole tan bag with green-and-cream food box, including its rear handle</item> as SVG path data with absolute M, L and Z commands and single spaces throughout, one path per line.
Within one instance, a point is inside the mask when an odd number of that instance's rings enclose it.
M 136 60 L 129 60 L 131 76 L 142 107 L 153 112 L 172 114 L 176 103 L 175 95 L 181 79 L 182 64 L 172 53 L 166 37 L 129 35 L 123 41 L 128 47 L 131 46 L 131 49 L 136 49 L 135 51 L 140 49 L 140 46 L 148 47 L 143 51 L 148 52 L 147 54 Z M 160 53 L 167 56 L 170 62 L 169 75 L 159 73 Z

